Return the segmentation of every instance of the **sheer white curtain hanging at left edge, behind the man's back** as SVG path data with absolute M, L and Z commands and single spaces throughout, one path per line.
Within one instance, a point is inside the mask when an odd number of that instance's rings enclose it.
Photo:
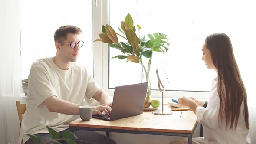
M 15 100 L 22 96 L 20 0 L 0 0 L 0 144 L 18 144 Z

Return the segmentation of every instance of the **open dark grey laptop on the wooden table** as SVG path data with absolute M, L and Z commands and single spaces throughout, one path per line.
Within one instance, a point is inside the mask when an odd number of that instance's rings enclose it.
M 92 115 L 107 121 L 114 121 L 143 113 L 148 82 L 115 87 L 111 115 Z

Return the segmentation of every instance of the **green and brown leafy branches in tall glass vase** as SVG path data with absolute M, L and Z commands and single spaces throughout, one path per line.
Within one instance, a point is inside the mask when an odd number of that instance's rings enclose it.
M 139 36 L 141 26 L 138 27 L 138 35 L 136 34 L 136 28 L 134 26 L 133 19 L 128 13 L 125 17 L 125 21 L 121 21 L 121 28 L 118 26 L 119 31 L 122 34 L 116 33 L 110 25 L 102 26 L 102 33 L 99 34 L 100 39 L 94 40 L 103 43 L 108 43 L 108 46 L 120 50 L 123 54 L 114 56 L 111 59 L 127 59 L 127 62 L 134 62 L 141 64 L 141 74 L 143 82 L 148 82 L 148 92 L 145 100 L 145 108 L 150 106 L 150 94 L 151 83 L 149 81 L 150 67 L 152 61 L 153 52 L 165 52 L 168 51 L 169 43 L 167 43 L 167 35 L 163 33 L 148 34 L 149 40 L 146 36 Z M 125 40 L 120 42 L 118 36 Z M 147 63 L 143 63 L 143 59 L 148 59 Z

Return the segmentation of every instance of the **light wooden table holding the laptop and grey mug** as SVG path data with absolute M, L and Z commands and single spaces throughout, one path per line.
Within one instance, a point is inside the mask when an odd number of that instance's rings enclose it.
M 165 108 L 171 108 L 165 106 Z M 122 118 L 115 121 L 104 121 L 92 118 L 82 121 L 80 118 L 69 123 L 70 131 L 89 130 L 109 132 L 154 134 L 188 137 L 188 144 L 192 144 L 192 134 L 197 127 L 197 117 L 193 111 L 173 111 L 172 115 L 153 115 L 152 111 L 144 111 L 141 115 Z

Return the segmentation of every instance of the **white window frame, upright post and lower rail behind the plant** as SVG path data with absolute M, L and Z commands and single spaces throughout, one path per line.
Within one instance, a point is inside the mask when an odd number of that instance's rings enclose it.
M 109 0 L 93 0 L 93 40 L 98 39 L 99 33 L 102 33 L 101 26 L 108 24 L 108 3 Z M 114 95 L 114 89 L 109 88 L 109 49 L 108 44 L 93 42 L 93 75 L 94 79 L 110 95 Z M 210 92 L 192 92 L 192 91 L 166 91 L 165 98 L 177 98 L 181 96 L 195 97 L 207 100 Z M 160 98 L 161 92 L 151 91 L 152 98 Z

